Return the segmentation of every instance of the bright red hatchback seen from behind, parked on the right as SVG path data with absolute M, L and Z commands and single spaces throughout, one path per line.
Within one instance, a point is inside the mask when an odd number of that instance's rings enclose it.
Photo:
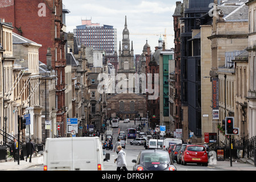
M 181 155 L 181 164 L 186 166 L 187 163 L 201 163 L 202 166 L 208 166 L 206 148 L 195 144 L 187 146 Z

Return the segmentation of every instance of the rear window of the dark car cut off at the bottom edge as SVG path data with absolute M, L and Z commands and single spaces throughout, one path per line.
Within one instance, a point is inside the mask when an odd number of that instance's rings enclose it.
M 168 153 L 146 153 L 141 156 L 141 165 L 147 169 L 166 168 L 170 164 Z

